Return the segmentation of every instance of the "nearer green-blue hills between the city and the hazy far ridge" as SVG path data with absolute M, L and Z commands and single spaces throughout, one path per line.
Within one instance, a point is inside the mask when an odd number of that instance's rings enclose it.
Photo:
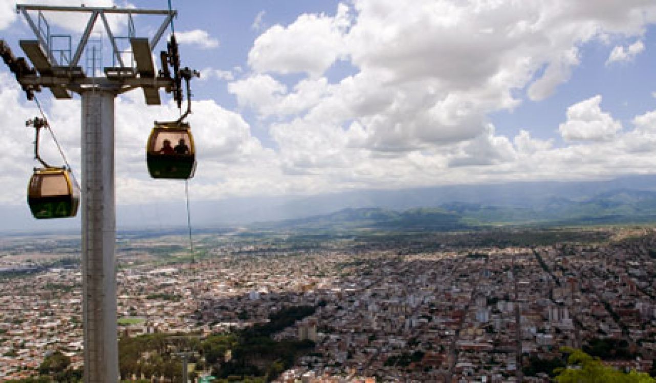
M 656 192 L 617 190 L 589 198 L 550 198 L 542 206 L 484 206 L 449 202 L 403 211 L 345 208 L 300 219 L 260 222 L 255 230 L 451 231 L 499 225 L 600 225 L 656 223 Z

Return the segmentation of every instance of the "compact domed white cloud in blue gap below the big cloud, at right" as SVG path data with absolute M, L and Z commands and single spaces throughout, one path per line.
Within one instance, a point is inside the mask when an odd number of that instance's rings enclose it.
M 602 96 L 575 103 L 567 108 L 567 121 L 560 124 L 560 135 L 567 141 L 609 141 L 622 128 L 609 113 L 602 112 Z

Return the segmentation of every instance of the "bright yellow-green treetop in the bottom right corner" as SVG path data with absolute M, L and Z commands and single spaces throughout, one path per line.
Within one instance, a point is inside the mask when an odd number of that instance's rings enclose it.
M 564 347 L 561 349 L 569 355 L 565 369 L 556 369 L 558 383 L 655 383 L 656 380 L 646 373 L 631 371 L 622 373 L 602 363 L 598 357 L 592 357 L 581 350 Z

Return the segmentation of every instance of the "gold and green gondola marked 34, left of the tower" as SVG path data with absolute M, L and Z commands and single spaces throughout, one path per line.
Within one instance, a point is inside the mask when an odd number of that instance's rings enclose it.
M 28 184 L 28 205 L 36 219 L 75 217 L 79 187 L 66 168 L 34 168 Z

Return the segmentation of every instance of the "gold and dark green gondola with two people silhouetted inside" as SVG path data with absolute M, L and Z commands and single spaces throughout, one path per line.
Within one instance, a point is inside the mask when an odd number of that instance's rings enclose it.
M 153 178 L 190 179 L 196 170 L 194 136 L 186 122 L 155 122 L 146 145 Z

